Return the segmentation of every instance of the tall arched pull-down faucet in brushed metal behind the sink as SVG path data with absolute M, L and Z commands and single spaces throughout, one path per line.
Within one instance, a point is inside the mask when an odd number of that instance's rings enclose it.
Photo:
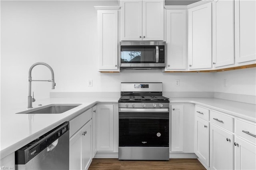
M 48 67 L 48 69 L 50 69 L 50 71 L 52 73 L 52 79 L 51 80 L 32 80 L 31 72 L 32 72 L 32 69 L 36 65 L 45 65 L 46 67 Z M 53 72 L 52 67 L 50 65 L 48 65 L 46 63 L 42 63 L 42 62 L 34 63 L 30 67 L 30 69 L 28 71 L 28 108 L 32 108 L 32 102 L 36 101 L 36 99 L 34 99 L 34 92 L 33 92 L 33 98 L 31 96 L 31 81 L 48 81 L 48 82 L 52 82 L 52 89 L 54 89 L 55 88 L 55 82 L 54 82 L 54 72 Z

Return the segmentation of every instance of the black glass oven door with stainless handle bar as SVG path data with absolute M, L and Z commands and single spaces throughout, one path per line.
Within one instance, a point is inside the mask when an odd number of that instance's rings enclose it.
M 119 147 L 169 147 L 169 109 L 119 109 Z

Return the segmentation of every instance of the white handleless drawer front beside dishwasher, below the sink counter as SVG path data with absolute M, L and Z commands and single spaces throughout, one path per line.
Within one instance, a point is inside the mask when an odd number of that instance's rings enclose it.
M 73 136 L 84 124 L 92 119 L 92 108 L 87 111 L 81 113 L 74 119 L 69 121 L 69 137 Z

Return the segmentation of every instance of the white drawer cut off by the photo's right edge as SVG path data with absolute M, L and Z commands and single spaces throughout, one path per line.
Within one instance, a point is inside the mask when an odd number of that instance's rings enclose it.
M 248 123 L 243 120 L 236 120 L 236 132 L 237 135 L 256 143 L 256 124 Z

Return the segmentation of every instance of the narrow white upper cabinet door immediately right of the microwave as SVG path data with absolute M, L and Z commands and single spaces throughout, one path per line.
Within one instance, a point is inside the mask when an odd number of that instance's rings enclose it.
M 186 69 L 186 10 L 167 10 L 167 67 Z

